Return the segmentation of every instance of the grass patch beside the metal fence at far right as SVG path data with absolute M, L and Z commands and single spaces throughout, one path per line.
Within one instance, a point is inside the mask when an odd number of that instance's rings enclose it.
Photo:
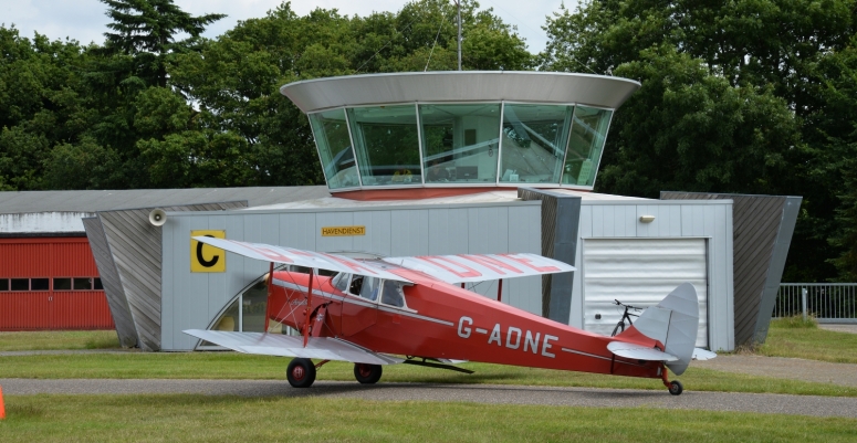
M 771 321 L 765 344 L 753 351 L 767 357 L 794 357 L 835 363 L 857 363 L 857 334 L 819 329 L 799 317 Z

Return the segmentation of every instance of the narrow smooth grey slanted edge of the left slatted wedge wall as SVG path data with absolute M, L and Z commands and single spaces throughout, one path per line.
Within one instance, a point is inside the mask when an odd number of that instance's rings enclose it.
M 107 306 L 111 308 L 113 323 L 116 326 L 119 345 L 123 348 L 134 348 L 137 346 L 137 329 L 134 327 L 134 318 L 130 315 L 125 292 L 119 281 L 119 273 L 116 270 L 116 264 L 113 262 L 113 255 L 111 254 L 101 220 L 97 217 L 83 219 L 83 228 L 86 230 L 92 255 L 95 259 L 95 265 L 98 267 L 98 276 L 102 279 L 104 294 L 107 297 Z

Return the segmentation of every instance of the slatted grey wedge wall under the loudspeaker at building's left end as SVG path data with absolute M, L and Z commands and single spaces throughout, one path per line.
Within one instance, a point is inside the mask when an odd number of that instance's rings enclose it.
M 165 211 L 222 211 L 247 202 L 161 207 Z M 144 350 L 160 349 L 161 230 L 149 224 L 154 208 L 100 212 L 125 299 Z

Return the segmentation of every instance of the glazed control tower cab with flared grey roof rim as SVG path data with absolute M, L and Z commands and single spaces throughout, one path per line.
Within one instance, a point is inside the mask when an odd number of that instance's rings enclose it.
M 355 200 L 593 189 L 610 119 L 640 84 L 542 72 L 369 74 L 280 88 L 310 118 L 327 187 Z

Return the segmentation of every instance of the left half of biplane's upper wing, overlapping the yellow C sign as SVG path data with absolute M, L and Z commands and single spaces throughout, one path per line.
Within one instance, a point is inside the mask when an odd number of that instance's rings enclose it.
M 297 266 L 315 267 L 349 274 L 368 275 L 385 279 L 412 283 L 391 272 L 377 266 L 367 266 L 365 263 L 346 257 L 344 255 L 326 254 L 323 252 L 304 251 L 294 247 L 275 246 L 272 244 L 239 242 L 236 240 L 215 239 L 211 236 L 195 236 L 194 240 L 233 252 L 245 257 L 265 262 L 286 263 Z

